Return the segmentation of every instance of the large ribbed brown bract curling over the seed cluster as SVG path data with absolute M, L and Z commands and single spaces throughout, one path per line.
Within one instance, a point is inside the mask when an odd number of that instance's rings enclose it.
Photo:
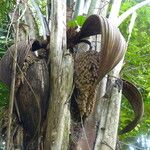
M 87 18 L 75 38 L 78 38 L 79 43 L 81 39 L 97 34 L 101 34 L 101 38 L 98 39 L 101 42 L 99 82 L 123 58 L 126 51 L 126 42 L 116 26 L 109 22 L 107 18 L 97 15 L 91 15 Z

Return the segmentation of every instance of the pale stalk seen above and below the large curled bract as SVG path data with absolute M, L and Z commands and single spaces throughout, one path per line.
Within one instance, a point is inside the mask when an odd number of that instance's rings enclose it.
M 118 17 L 120 10 L 121 0 L 114 0 L 109 20 L 115 20 Z M 104 13 L 104 12 L 102 12 Z M 105 12 L 106 13 L 106 12 Z M 119 77 L 121 66 L 116 66 L 117 74 Z M 116 147 L 117 131 L 120 114 L 121 104 L 121 91 L 118 91 L 115 84 L 115 78 L 108 78 L 107 76 L 102 80 L 101 94 L 98 96 L 98 104 L 96 105 L 96 118 L 98 121 L 97 136 L 95 140 L 94 150 L 112 150 Z M 106 90 L 105 90 L 106 89 Z M 105 97 L 107 95 L 107 97 Z M 99 116 L 99 118 L 98 118 Z

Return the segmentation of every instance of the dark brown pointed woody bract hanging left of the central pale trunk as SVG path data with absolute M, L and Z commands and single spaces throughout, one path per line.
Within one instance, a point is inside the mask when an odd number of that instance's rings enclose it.
M 29 44 L 18 42 L 17 45 L 16 81 L 20 80 L 20 84 L 19 86 L 16 84 L 15 106 L 17 108 L 15 107 L 15 112 L 17 112 L 18 120 L 24 129 L 24 146 L 26 147 L 32 144 L 31 142 L 37 141 L 35 137 L 38 138 L 46 119 L 49 71 L 46 60 L 39 59 L 32 52 L 41 48 L 37 40 L 31 41 Z M 12 80 L 14 48 L 15 46 L 12 45 L 0 61 L 0 80 L 9 88 Z

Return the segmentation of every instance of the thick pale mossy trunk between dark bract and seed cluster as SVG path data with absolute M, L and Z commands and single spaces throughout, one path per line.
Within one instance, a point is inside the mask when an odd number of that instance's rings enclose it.
M 51 1 L 50 85 L 45 150 L 67 149 L 70 132 L 68 100 L 72 92 L 73 60 L 66 50 L 66 3 Z

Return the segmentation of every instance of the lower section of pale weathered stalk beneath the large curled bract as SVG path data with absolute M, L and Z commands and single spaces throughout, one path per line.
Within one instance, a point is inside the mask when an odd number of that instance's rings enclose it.
M 119 76 L 118 73 L 121 67 L 122 61 L 115 67 L 117 73 L 114 75 L 116 77 Z M 95 150 L 112 150 L 116 147 L 121 104 L 121 85 L 118 85 L 117 82 L 118 80 L 114 77 L 109 77 L 109 81 L 107 79 L 106 95 L 101 98 L 103 107 L 101 108 L 102 114 L 95 142 Z

